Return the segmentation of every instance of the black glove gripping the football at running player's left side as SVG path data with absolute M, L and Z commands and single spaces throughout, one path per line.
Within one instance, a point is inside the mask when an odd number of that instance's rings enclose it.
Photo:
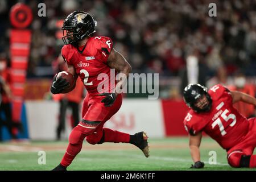
M 62 90 L 68 87 L 69 87 L 69 82 L 65 78 L 61 76 L 57 78 L 57 74 L 55 75 L 55 77 L 53 77 L 51 93 L 53 94 L 61 93 Z

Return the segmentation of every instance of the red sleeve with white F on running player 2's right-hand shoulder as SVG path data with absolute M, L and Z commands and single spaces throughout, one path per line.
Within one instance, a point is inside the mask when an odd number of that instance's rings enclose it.
M 100 52 L 101 60 L 106 63 L 108 60 L 109 54 L 113 48 L 113 42 L 110 38 L 106 36 L 94 37 L 96 47 L 98 52 Z

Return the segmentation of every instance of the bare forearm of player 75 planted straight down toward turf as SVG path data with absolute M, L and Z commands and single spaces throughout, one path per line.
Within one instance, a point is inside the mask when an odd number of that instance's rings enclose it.
M 193 162 L 200 161 L 200 143 L 201 143 L 202 134 L 199 133 L 195 136 L 189 135 L 189 148 L 191 152 L 191 158 Z

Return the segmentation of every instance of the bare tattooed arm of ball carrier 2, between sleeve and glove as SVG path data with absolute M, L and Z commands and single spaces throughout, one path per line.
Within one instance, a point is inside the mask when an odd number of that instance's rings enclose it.
M 109 65 L 110 68 L 115 69 L 115 71 L 118 71 L 118 73 L 123 73 L 122 76 L 124 78 L 119 79 L 117 82 L 117 85 L 115 86 L 116 88 L 116 94 L 121 93 L 122 85 L 125 85 L 126 78 L 131 72 L 131 66 L 130 64 L 126 61 L 125 57 L 121 55 L 118 51 L 116 51 L 114 48 L 110 52 L 110 55 L 108 57 L 107 64 Z

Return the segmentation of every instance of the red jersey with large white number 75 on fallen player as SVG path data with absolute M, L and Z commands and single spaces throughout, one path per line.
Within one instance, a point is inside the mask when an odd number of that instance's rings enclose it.
M 249 122 L 234 109 L 232 95 L 224 86 L 214 85 L 208 93 L 212 98 L 212 108 L 205 113 L 189 110 L 184 119 L 185 129 L 191 135 L 204 131 L 228 150 L 247 134 Z

